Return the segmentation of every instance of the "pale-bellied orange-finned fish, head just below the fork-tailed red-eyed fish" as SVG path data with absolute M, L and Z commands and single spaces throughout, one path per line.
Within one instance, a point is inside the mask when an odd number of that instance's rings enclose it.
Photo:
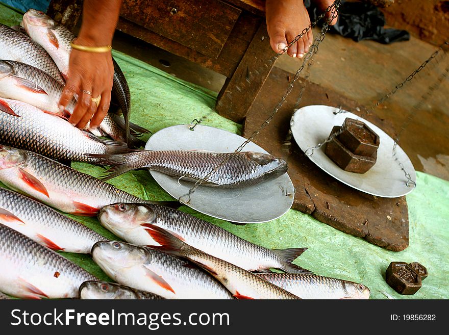
M 232 299 L 214 278 L 183 260 L 143 246 L 97 242 L 92 259 L 111 278 L 165 299 Z M 262 279 L 261 279 L 262 280 Z

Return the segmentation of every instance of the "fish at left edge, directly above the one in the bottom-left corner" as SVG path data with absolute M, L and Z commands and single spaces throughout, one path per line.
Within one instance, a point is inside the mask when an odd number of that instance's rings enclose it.
M 108 240 L 46 205 L 0 187 L 0 223 L 53 250 L 90 253 Z

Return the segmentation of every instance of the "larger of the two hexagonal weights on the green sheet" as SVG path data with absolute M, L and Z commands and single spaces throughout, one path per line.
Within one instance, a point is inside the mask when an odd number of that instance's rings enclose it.
M 415 294 L 421 288 L 421 277 L 405 262 L 391 262 L 385 280 L 400 294 Z

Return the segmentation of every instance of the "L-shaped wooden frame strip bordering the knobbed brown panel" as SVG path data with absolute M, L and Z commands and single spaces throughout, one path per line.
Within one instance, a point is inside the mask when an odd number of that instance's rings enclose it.
M 254 15 L 249 13 L 242 13 L 217 59 L 205 56 L 198 51 L 151 32 L 122 17 L 119 19 L 117 29 L 167 50 L 174 55 L 178 55 L 192 62 L 202 64 L 203 66 L 229 78 L 232 76 L 240 60 L 242 59 L 245 50 L 257 31 L 257 27 L 260 25 L 260 22 L 260 18 L 256 18 Z

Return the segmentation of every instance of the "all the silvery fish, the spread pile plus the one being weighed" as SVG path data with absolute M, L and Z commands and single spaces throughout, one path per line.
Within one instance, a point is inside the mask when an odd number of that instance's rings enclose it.
M 108 179 L 144 168 L 241 188 L 288 167 L 259 152 L 132 150 L 147 131 L 129 122 L 130 92 L 115 62 L 112 93 L 123 117 L 108 112 L 98 129 L 79 130 L 67 122 L 76 98 L 58 108 L 74 36 L 35 10 L 24 14 L 22 27 L 0 24 L 0 182 L 11 189 L 0 187 L 0 299 L 369 298 L 362 284 L 293 264 L 307 248 L 265 248 L 179 211 L 178 201 L 144 200 L 72 169 L 71 161 L 110 165 Z M 105 135 L 112 140 L 98 138 Z M 56 210 L 97 216 L 124 242 Z M 64 252 L 90 254 L 112 281 Z

